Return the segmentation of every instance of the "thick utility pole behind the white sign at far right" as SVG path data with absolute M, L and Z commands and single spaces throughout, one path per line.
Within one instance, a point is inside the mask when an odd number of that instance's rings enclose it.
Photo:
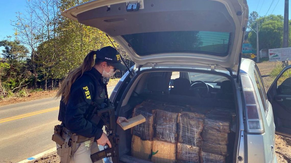
M 289 0 L 285 0 L 284 7 L 284 30 L 283 30 L 283 48 L 288 47 L 289 37 Z M 282 61 L 282 67 L 287 66 L 288 61 Z

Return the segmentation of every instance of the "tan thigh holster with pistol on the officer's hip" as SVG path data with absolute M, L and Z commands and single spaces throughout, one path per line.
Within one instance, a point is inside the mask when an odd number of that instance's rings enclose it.
M 52 140 L 61 146 L 57 148 L 57 154 L 60 156 L 61 163 L 69 163 L 73 151 L 76 151 L 78 136 L 71 133 L 64 126 L 56 125 Z

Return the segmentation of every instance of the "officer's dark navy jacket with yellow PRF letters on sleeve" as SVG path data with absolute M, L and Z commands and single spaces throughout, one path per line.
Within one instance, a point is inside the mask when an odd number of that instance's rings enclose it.
M 95 137 L 95 140 L 101 137 L 103 122 L 100 117 L 94 115 L 91 119 L 88 116 L 91 116 L 94 110 L 91 102 L 99 105 L 104 103 L 105 84 L 102 78 L 102 75 L 92 68 L 72 84 L 68 103 L 65 105 L 61 100 L 58 120 L 72 133 L 88 138 Z

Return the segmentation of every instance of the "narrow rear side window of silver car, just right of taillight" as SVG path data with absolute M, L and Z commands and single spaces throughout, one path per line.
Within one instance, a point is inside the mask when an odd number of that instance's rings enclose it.
M 267 95 L 266 95 L 264 84 L 263 84 L 263 81 L 262 81 L 262 78 L 261 78 L 261 75 L 258 71 L 257 66 L 255 66 L 254 75 L 255 75 L 256 86 L 258 87 L 258 90 L 260 93 L 260 99 L 262 101 L 264 110 L 267 111 L 268 110 L 267 103 L 266 103 L 267 102 Z

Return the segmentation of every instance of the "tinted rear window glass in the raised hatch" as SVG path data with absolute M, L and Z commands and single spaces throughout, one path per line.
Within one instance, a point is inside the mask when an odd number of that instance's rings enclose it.
M 141 56 L 175 52 L 227 56 L 231 44 L 228 32 L 148 32 L 123 35 L 123 38 Z

